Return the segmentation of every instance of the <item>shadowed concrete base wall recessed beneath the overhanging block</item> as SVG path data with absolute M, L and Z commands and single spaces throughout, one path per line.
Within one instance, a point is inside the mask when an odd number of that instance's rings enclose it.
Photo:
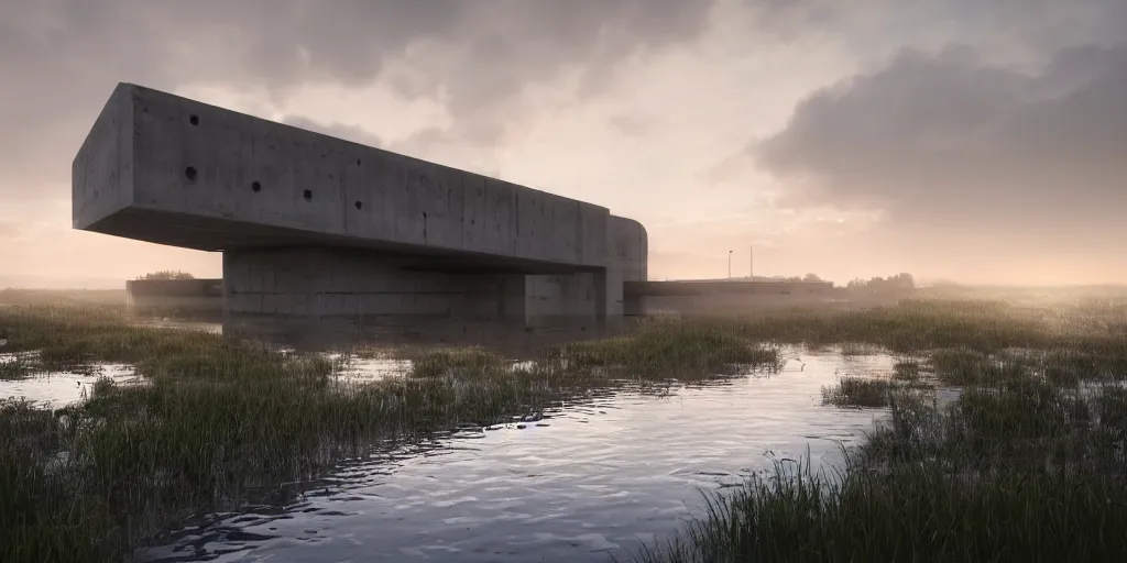
M 594 330 L 600 274 L 525 276 L 416 271 L 417 260 L 344 249 L 223 253 L 225 313 L 339 319 L 358 327 Z M 603 312 L 605 316 L 605 312 Z

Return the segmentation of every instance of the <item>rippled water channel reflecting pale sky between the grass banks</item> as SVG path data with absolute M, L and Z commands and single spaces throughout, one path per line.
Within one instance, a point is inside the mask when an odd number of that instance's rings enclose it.
M 283 510 L 181 530 L 143 561 L 606 561 L 678 529 L 700 489 L 773 459 L 841 462 L 881 411 L 820 404 L 882 355 L 795 354 L 782 373 L 655 397 L 595 393 L 538 421 L 464 430 L 344 463 Z

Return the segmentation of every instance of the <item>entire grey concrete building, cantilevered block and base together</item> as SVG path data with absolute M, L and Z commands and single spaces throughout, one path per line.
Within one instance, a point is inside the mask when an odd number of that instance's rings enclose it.
M 605 207 L 134 84 L 72 172 L 76 229 L 223 252 L 225 324 L 597 331 L 647 276 Z

